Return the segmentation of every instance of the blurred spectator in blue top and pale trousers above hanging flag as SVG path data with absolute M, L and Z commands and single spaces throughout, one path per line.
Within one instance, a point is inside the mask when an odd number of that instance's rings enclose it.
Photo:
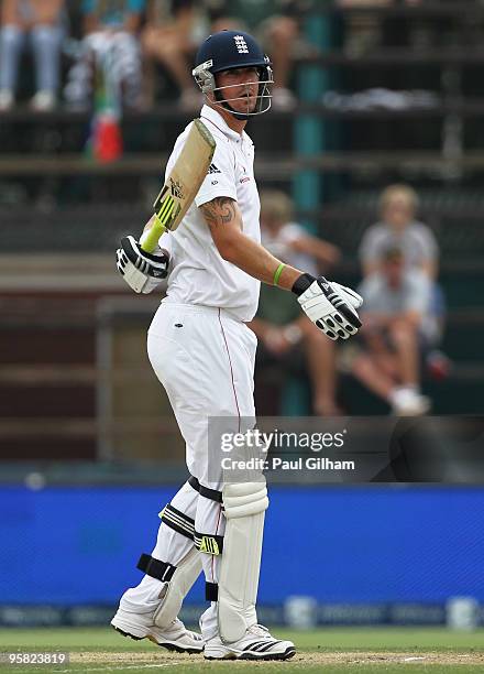
M 116 107 L 141 105 L 139 31 L 145 0 L 84 0 L 84 39 L 70 68 L 65 96 L 69 107 L 92 104 L 97 75 Z

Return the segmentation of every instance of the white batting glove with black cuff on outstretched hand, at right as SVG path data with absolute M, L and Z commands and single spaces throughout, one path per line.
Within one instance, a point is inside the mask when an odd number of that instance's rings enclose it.
M 302 274 L 293 292 L 308 318 L 333 341 L 348 339 L 361 327 L 355 309 L 363 304 L 363 297 L 351 287 L 329 282 L 324 276 Z

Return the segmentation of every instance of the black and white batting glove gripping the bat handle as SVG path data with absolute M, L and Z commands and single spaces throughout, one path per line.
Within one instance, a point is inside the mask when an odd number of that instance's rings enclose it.
M 157 287 L 168 273 L 169 254 L 148 253 L 134 237 L 123 237 L 117 252 L 117 268 L 135 293 L 147 294 Z

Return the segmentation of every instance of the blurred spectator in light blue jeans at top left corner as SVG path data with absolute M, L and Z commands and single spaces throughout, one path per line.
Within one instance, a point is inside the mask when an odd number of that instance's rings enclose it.
M 19 64 L 26 44 L 32 48 L 36 93 L 31 107 L 55 107 L 59 87 L 64 0 L 3 0 L 0 29 L 0 111 L 15 102 Z

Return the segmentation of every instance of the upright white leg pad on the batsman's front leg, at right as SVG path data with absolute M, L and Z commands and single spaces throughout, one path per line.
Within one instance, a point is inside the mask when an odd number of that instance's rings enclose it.
M 218 622 L 222 642 L 242 639 L 256 622 L 258 573 L 267 489 L 263 482 L 226 485 L 222 490 L 227 519 L 220 564 Z

